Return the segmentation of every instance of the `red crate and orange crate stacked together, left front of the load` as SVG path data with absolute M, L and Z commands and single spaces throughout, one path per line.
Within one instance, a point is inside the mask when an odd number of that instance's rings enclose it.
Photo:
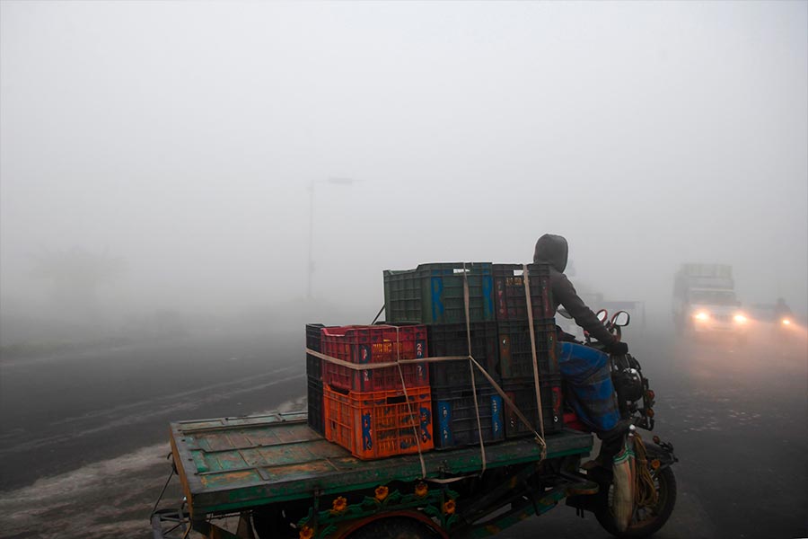
M 321 349 L 326 356 L 353 365 L 425 358 L 426 326 L 321 328 Z M 426 364 L 363 369 L 323 360 L 321 372 L 326 439 L 362 459 L 433 448 Z

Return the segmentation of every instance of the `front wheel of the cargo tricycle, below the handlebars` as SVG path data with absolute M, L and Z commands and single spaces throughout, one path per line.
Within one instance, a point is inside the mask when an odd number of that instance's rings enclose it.
M 676 503 L 676 478 L 673 471 L 671 468 L 663 468 L 655 473 L 652 471 L 651 475 L 657 493 L 656 504 L 635 508 L 631 524 L 623 532 L 618 531 L 611 514 L 611 497 L 614 490 L 612 484 L 608 482 L 605 488 L 602 486 L 597 494 L 595 517 L 611 535 L 631 539 L 647 537 L 659 531 L 671 517 Z

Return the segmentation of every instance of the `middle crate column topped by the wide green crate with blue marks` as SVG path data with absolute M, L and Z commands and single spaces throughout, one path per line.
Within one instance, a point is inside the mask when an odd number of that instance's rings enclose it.
M 421 264 L 415 270 L 385 271 L 387 320 L 393 324 L 426 324 L 430 357 L 468 356 L 466 282 L 469 287 L 471 355 L 499 383 L 499 344 L 491 263 Z M 502 397 L 479 369 L 470 368 L 468 361 L 441 361 L 429 364 L 429 376 L 436 448 L 479 444 L 478 413 L 484 442 L 505 438 Z

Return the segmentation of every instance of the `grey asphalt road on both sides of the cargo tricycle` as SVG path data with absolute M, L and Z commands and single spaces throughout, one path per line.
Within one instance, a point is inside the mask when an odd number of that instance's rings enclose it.
M 808 345 L 690 343 L 628 328 L 657 393 L 679 497 L 656 536 L 808 536 Z M 0 358 L 0 536 L 151 537 L 168 423 L 304 406 L 303 336 L 207 335 L 13 361 Z M 179 499 L 172 483 L 167 499 Z M 560 506 L 505 531 L 608 537 Z

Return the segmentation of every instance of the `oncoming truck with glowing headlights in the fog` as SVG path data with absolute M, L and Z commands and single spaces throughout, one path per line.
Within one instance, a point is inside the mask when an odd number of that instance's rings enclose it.
M 682 335 L 746 336 L 749 319 L 728 264 L 682 264 L 673 280 L 673 323 Z

